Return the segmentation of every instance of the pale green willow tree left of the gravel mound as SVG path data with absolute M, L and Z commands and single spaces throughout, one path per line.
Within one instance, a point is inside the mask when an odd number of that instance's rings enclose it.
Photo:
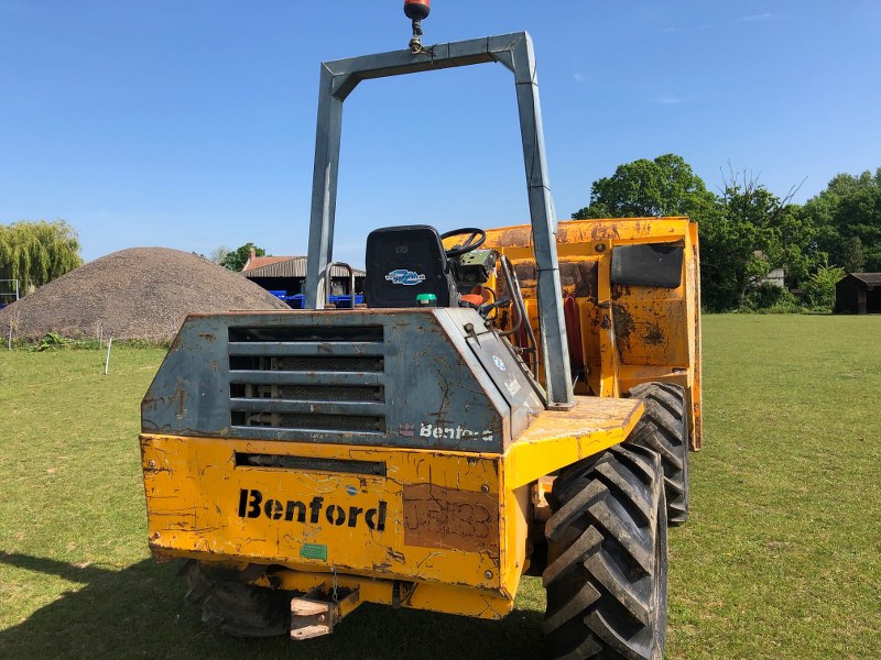
M 76 230 L 64 220 L 0 224 L 0 279 L 18 279 L 22 292 L 81 264 Z

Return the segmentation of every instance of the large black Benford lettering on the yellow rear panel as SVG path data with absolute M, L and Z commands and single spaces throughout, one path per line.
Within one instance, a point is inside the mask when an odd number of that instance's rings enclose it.
M 261 516 L 270 520 L 284 520 L 286 522 L 300 522 L 305 525 L 308 518 L 309 525 L 320 525 L 327 520 L 330 525 L 342 527 L 358 527 L 363 524 L 368 529 L 376 531 L 385 530 L 385 515 L 388 504 L 379 501 L 379 504 L 369 509 L 360 506 L 339 506 L 330 504 L 325 506 L 324 497 L 316 495 L 306 504 L 298 499 L 273 499 L 264 498 L 263 493 L 257 488 L 241 488 L 239 491 L 239 518 L 260 518 Z M 324 512 L 324 516 L 322 515 Z

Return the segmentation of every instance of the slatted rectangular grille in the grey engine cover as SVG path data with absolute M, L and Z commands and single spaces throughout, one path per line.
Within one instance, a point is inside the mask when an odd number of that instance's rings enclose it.
M 228 350 L 233 428 L 385 433 L 382 326 L 230 328 Z

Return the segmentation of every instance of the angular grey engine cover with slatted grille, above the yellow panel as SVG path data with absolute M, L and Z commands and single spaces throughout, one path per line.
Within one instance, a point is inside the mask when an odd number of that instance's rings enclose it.
M 503 452 L 544 408 L 472 309 L 191 316 L 142 431 Z

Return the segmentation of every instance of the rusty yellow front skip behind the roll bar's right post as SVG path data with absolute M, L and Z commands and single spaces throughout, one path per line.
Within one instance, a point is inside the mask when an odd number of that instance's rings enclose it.
M 616 246 L 666 243 L 684 248 L 677 288 L 611 284 Z M 532 229 L 527 224 L 487 232 L 486 248 L 507 255 L 520 279 L 536 337 L 539 309 Z M 687 218 L 573 220 L 557 228 L 557 255 L 564 297 L 578 309 L 580 337 L 569 337 L 573 361 L 587 377 L 576 394 L 624 395 L 640 383 L 662 382 L 686 391 L 690 447 L 700 449 L 700 277 L 697 224 Z M 541 351 L 539 351 L 541 355 Z

